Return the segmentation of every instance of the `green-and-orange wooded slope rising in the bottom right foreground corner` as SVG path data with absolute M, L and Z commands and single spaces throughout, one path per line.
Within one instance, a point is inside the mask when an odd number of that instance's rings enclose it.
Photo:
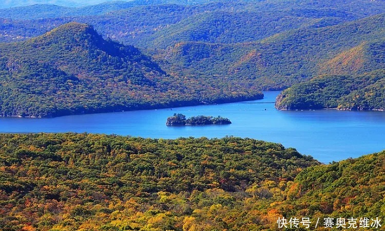
M 313 224 L 323 218 L 385 218 L 385 150 L 357 159 L 314 166 L 302 170 L 288 189 L 286 200 L 278 202 L 276 215 L 306 216 Z M 272 213 L 272 210 L 270 211 Z M 316 219 L 314 219 L 316 218 Z M 362 227 L 361 230 L 380 230 L 381 227 Z M 335 221 L 336 219 L 334 219 Z M 324 230 L 324 229 L 320 229 Z

